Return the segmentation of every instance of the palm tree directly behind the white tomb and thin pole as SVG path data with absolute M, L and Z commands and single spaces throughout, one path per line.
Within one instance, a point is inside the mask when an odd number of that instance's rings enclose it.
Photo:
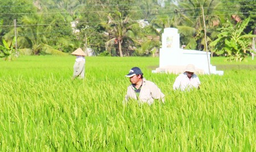
M 189 0 L 181 1 L 176 6 L 176 16 L 179 18 L 179 29 L 181 33 L 181 41 L 186 48 L 205 50 L 204 44 L 204 24 L 201 7 L 204 7 L 205 23 L 207 25 L 207 41 L 211 41 L 212 31 L 221 23 L 218 7 L 221 3 L 214 0 Z M 216 24 L 217 23 L 217 24 Z

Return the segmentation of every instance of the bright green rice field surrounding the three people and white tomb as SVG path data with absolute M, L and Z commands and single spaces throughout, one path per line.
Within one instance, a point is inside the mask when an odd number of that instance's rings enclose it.
M 152 57 L 74 56 L 0 61 L 0 151 L 256 151 L 256 60 L 211 59 L 224 75 L 199 75 L 200 90 L 173 91 L 177 75 L 151 73 Z M 166 103 L 123 104 L 131 67 Z

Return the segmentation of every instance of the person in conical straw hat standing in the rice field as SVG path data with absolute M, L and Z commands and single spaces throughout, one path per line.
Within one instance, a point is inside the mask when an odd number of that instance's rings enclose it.
M 76 56 L 76 61 L 73 66 L 73 79 L 79 77 L 80 79 L 84 79 L 84 71 L 85 71 L 85 53 L 81 48 L 76 49 L 71 54 Z

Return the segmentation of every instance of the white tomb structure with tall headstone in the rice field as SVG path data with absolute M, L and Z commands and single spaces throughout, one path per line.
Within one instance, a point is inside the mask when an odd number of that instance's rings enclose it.
M 180 34 L 176 28 L 164 28 L 159 60 L 159 67 L 152 71 L 154 73 L 180 74 L 184 72 L 185 66 L 193 64 L 197 74 L 224 74 L 224 71 L 216 71 L 216 66 L 210 65 L 209 52 L 207 55 L 204 51 L 181 49 Z

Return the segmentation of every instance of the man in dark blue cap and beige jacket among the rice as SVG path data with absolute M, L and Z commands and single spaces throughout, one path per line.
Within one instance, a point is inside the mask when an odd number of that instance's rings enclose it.
M 133 67 L 125 77 L 130 78 L 131 85 L 127 88 L 125 100 L 138 100 L 139 103 L 152 104 L 154 99 L 161 100 L 164 103 L 164 94 L 160 88 L 151 81 L 143 78 L 143 73 L 139 67 Z

